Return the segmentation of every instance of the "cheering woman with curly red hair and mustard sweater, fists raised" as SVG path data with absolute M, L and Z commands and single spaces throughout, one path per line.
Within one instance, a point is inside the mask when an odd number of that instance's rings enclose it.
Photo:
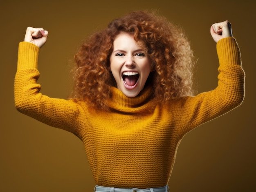
M 75 55 L 68 100 L 42 95 L 36 83 L 47 35 L 28 27 L 19 44 L 16 108 L 83 141 L 97 192 L 166 192 L 182 137 L 244 98 L 240 51 L 228 21 L 211 26 L 218 86 L 195 96 L 189 42 L 154 13 L 130 13 L 88 38 Z

